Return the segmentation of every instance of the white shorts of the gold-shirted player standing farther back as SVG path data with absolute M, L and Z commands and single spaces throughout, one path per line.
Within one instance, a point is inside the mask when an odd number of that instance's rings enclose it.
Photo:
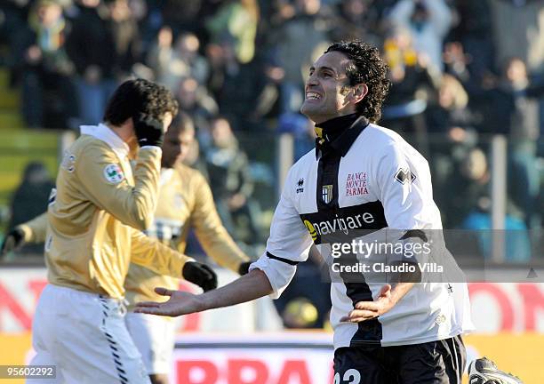
M 175 322 L 163 316 L 129 312 L 126 328 L 140 351 L 148 374 L 170 372 L 174 348 Z

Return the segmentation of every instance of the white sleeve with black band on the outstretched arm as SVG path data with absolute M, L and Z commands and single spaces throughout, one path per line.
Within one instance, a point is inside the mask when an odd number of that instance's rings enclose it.
M 287 180 L 291 180 L 290 176 L 287 176 Z M 285 186 L 290 185 L 292 183 L 289 181 L 285 182 Z M 300 220 L 299 212 L 292 203 L 292 196 L 287 188 L 284 188 L 270 226 L 267 250 L 250 266 L 250 270 L 260 269 L 268 277 L 273 289 L 270 294 L 272 299 L 279 298 L 291 283 L 297 269 L 296 265 L 308 259 L 312 244 L 308 229 Z

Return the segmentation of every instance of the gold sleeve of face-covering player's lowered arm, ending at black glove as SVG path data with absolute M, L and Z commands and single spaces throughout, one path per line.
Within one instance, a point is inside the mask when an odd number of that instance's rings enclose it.
M 159 275 L 181 277 L 185 263 L 194 261 L 137 229 L 131 230 L 131 261 L 134 264 L 149 268 Z

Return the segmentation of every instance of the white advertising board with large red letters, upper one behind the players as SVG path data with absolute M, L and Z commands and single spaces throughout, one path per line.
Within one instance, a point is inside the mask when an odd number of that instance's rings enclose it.
M 226 284 L 233 275 L 220 271 L 220 284 Z M 25 332 L 32 327 L 32 316 L 40 292 L 46 284 L 44 268 L 0 269 L 0 332 Z M 191 284 L 182 284 L 184 290 L 193 290 Z M 470 283 L 472 317 L 478 333 L 539 332 L 544 333 L 544 284 L 535 283 Z M 254 303 L 222 308 L 183 316 L 180 332 L 250 332 L 277 330 L 276 314 L 270 300 L 263 299 L 259 310 Z M 264 309 L 263 309 L 264 308 Z M 268 323 L 257 321 L 260 317 Z

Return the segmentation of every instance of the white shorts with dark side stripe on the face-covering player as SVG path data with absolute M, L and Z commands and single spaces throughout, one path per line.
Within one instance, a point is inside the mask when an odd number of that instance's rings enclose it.
M 32 365 L 56 365 L 55 383 L 137 383 L 149 377 L 124 324 L 124 305 L 48 284 L 32 325 Z M 30 380 L 32 383 L 40 380 Z

